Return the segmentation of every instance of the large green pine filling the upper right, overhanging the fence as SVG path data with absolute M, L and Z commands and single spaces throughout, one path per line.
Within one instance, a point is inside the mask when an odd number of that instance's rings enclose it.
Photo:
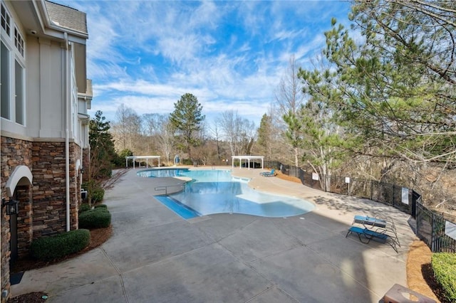
M 325 52 L 343 97 L 331 107 L 364 149 L 455 164 L 455 9 L 455 1 L 354 1 L 363 43 L 332 21 Z

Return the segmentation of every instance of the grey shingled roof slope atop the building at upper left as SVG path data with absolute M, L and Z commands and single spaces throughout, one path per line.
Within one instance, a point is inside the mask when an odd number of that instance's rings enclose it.
M 88 34 L 86 13 L 51 1 L 44 2 L 48 16 L 56 26 Z

